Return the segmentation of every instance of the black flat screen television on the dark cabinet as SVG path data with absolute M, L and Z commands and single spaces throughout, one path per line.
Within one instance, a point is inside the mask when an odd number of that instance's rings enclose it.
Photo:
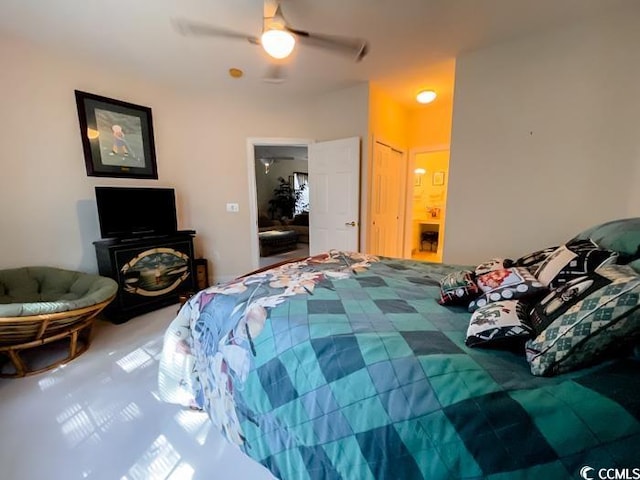
M 102 238 L 134 238 L 175 233 L 173 188 L 95 187 Z

